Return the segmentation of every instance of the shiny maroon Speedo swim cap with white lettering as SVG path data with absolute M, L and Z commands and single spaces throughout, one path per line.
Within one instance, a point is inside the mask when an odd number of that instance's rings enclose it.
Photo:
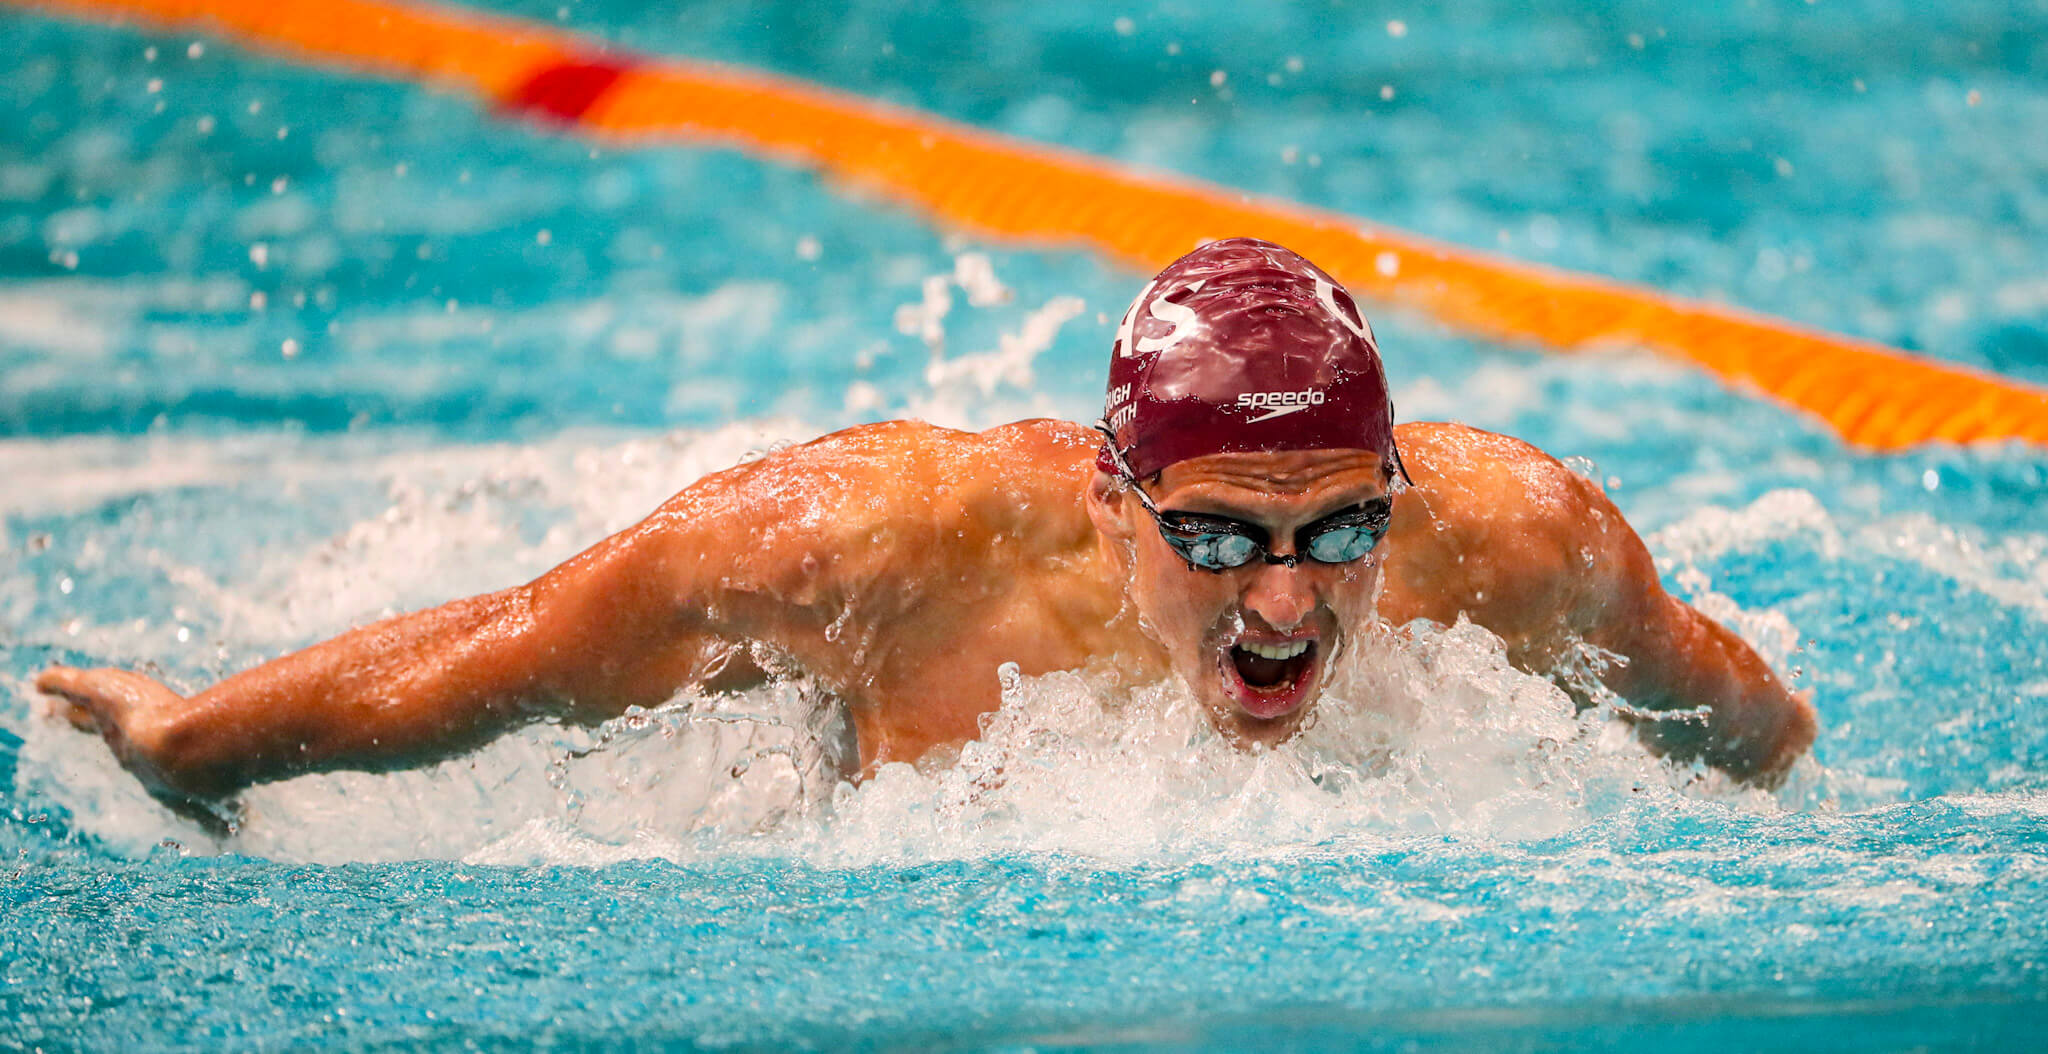
M 1141 479 L 1274 450 L 1374 450 L 1389 477 L 1401 465 L 1372 325 L 1323 268 L 1255 237 L 1210 241 L 1139 293 L 1102 428 Z M 1096 467 L 1116 473 L 1108 444 Z

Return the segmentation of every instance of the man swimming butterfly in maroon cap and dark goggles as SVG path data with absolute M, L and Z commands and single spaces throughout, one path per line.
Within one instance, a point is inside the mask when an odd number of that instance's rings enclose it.
M 1522 669 L 1593 645 L 1630 710 L 1704 708 L 1638 720 L 1669 757 L 1772 786 L 1812 743 L 1812 706 L 1663 591 L 1597 487 L 1507 436 L 1395 428 L 1352 297 L 1237 237 L 1139 293 L 1094 430 L 848 428 L 705 477 L 526 585 L 190 698 L 123 669 L 51 667 L 37 688 L 190 804 L 741 688 L 766 647 L 844 700 L 870 774 L 973 739 L 1001 663 L 1180 677 L 1231 741 L 1284 741 L 1370 620 L 1460 614 Z

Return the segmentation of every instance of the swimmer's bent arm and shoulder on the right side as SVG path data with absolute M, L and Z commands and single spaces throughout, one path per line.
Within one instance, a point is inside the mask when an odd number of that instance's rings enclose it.
M 1403 616 L 1470 614 L 1534 673 L 1556 673 L 1581 643 L 1620 657 L 1599 671 L 1602 684 L 1640 712 L 1638 737 L 1673 759 L 1774 786 L 1806 753 L 1806 696 L 1741 636 L 1663 589 L 1642 538 L 1597 485 L 1522 440 L 1475 428 L 1409 424 L 1401 442 L 1419 485 L 1395 503 L 1395 516 L 1413 522 L 1389 557 L 1382 610 L 1393 600 Z M 1653 714 L 1694 708 L 1704 720 Z

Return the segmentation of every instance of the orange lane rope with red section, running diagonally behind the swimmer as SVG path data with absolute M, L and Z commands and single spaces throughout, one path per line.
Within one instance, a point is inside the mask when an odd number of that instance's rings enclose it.
M 203 27 L 358 74 L 422 80 L 621 143 L 696 139 L 817 168 L 942 223 L 1085 244 L 1155 270 L 1204 237 L 1255 233 L 1354 293 L 1487 340 L 1647 346 L 1802 407 L 1847 442 L 2048 444 L 2048 389 L 1729 307 L 1430 241 L 1286 201 L 1135 172 L 817 86 L 635 57 L 551 27 L 391 0 L 0 0 L 98 20 Z

